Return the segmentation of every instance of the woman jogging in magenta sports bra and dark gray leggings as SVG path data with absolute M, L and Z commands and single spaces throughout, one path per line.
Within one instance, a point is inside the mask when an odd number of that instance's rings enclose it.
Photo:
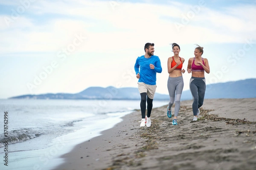
M 192 110 L 194 118 L 192 121 L 197 121 L 197 116 L 200 114 L 199 108 L 204 103 L 204 94 L 206 90 L 204 72 L 208 74 L 210 73 L 208 60 L 202 58 L 203 53 L 203 47 L 197 45 L 194 51 L 195 57 L 189 59 L 187 67 L 188 73 L 192 73 L 189 82 L 189 88 L 193 97 Z

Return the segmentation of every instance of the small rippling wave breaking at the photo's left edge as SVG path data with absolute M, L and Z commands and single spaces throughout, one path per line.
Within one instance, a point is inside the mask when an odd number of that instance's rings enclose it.
M 3 147 L 6 142 L 8 142 L 8 144 L 24 142 L 29 139 L 34 139 L 42 134 L 44 133 L 29 128 L 12 130 L 8 132 L 8 135 L 6 136 L 2 133 L 0 134 L 0 147 Z

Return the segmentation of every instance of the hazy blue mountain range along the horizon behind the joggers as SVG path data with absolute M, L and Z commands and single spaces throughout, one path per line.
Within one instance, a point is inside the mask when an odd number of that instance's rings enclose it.
M 256 98 L 256 79 L 245 79 L 234 82 L 210 84 L 206 87 L 205 99 L 219 98 Z M 126 99 L 139 100 L 140 94 L 138 88 L 115 88 L 109 86 L 90 87 L 77 94 L 39 94 L 22 95 L 9 99 Z M 169 100 L 168 94 L 156 93 L 155 100 Z M 189 90 L 183 91 L 181 100 L 190 100 L 192 95 Z

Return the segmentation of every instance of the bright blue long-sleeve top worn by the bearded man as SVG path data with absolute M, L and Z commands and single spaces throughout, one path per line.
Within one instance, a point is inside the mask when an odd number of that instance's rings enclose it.
M 154 65 L 154 69 L 150 69 L 150 64 Z M 134 69 L 136 74 L 140 73 L 138 82 L 144 82 L 147 85 L 156 85 L 157 73 L 162 72 L 161 62 L 158 56 L 145 58 L 143 55 L 138 57 Z

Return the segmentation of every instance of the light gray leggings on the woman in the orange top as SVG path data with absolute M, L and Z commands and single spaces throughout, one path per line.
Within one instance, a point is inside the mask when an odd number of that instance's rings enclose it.
M 175 112 L 174 116 L 178 116 L 180 111 L 180 97 L 183 90 L 184 82 L 183 77 L 169 77 L 167 82 L 167 88 L 169 91 L 170 101 L 169 108 L 172 108 L 172 105 L 175 102 Z M 176 91 L 176 99 L 175 99 L 175 91 Z

